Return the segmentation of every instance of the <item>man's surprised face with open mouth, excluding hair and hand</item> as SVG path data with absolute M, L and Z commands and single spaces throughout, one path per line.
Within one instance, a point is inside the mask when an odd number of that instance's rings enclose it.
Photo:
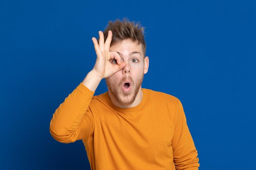
M 113 44 L 110 52 L 117 52 L 126 63 L 122 70 L 106 78 L 110 99 L 119 106 L 130 106 L 142 96 L 141 83 L 148 72 L 148 57 L 144 57 L 142 45 L 130 39 Z M 115 60 L 110 62 L 116 64 Z

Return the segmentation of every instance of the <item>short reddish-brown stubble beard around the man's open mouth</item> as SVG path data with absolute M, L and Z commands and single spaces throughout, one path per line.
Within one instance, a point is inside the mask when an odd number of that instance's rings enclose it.
M 135 101 L 137 94 L 139 92 L 140 86 L 142 84 L 143 78 L 144 78 L 144 74 L 142 73 L 141 76 L 139 77 L 137 83 L 134 84 L 131 77 L 128 77 L 128 78 L 124 77 L 118 85 L 115 84 L 113 79 L 111 79 L 109 77 L 106 78 L 105 80 L 106 80 L 108 89 L 112 93 L 112 95 L 115 97 L 115 100 L 122 106 L 129 106 Z M 132 86 L 132 90 L 130 91 L 130 93 L 125 94 L 122 91 L 121 86 L 122 86 L 123 82 L 127 79 L 129 79 L 132 82 L 133 86 Z

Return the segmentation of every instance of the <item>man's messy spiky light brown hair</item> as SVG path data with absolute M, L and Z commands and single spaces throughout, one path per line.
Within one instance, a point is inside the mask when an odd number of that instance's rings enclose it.
M 138 44 L 142 44 L 142 50 L 145 57 L 146 42 L 144 40 L 144 27 L 140 25 L 140 22 L 131 22 L 127 18 L 124 18 L 123 20 L 115 20 L 114 22 L 109 21 L 103 31 L 105 41 L 108 37 L 109 30 L 111 30 L 113 34 L 110 46 L 121 40 L 131 39 L 133 42 L 137 41 Z

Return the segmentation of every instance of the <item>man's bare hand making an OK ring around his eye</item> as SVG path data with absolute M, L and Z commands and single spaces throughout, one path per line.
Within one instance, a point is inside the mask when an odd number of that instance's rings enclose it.
M 97 59 L 92 72 L 94 72 L 101 79 L 111 76 L 125 66 L 125 63 L 121 62 L 121 57 L 117 52 L 109 52 L 111 40 L 112 31 L 108 31 L 108 37 L 105 43 L 102 31 L 99 31 L 99 44 L 96 38 L 92 38 L 94 49 L 97 54 Z M 111 63 L 111 61 L 114 59 L 116 60 L 117 64 Z

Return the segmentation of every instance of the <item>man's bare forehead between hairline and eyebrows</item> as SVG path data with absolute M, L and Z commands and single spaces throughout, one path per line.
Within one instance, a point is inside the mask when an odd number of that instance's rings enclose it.
M 132 53 L 134 51 L 138 51 L 141 53 L 141 55 L 143 55 L 142 44 L 139 44 L 138 41 L 133 42 L 131 39 L 115 42 L 110 46 L 110 52 L 112 51 L 118 51 L 121 53 Z

